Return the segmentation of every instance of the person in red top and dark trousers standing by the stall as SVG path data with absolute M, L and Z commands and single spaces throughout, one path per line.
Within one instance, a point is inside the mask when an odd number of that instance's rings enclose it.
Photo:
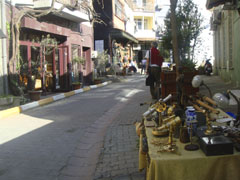
M 146 70 L 147 73 L 151 73 L 154 78 L 154 85 L 150 86 L 150 93 L 152 99 L 159 99 L 159 88 L 160 88 L 160 76 L 163 57 L 157 49 L 157 42 L 151 43 L 151 49 L 147 51 L 145 58 L 147 59 Z

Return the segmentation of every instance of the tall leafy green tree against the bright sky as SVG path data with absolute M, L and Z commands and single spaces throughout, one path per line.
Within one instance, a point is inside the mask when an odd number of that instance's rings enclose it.
M 171 17 L 171 21 L 168 20 L 169 17 Z M 176 9 L 176 28 L 173 28 L 172 18 L 172 14 L 169 12 L 165 18 L 165 30 L 162 35 L 163 46 L 169 51 L 173 50 L 174 56 L 176 56 L 173 45 L 177 40 L 181 64 L 187 61 L 193 62 L 195 47 L 199 43 L 199 35 L 203 29 L 201 26 L 202 15 L 192 0 L 182 0 L 179 1 Z M 174 36 L 176 37 L 174 38 Z

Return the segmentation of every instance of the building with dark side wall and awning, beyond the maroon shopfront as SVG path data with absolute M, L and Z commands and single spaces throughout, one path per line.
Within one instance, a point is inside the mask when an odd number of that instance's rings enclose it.
M 95 50 L 110 55 L 110 63 L 132 60 L 134 36 L 133 4 L 131 0 L 94 1 L 94 9 L 103 23 L 94 26 Z

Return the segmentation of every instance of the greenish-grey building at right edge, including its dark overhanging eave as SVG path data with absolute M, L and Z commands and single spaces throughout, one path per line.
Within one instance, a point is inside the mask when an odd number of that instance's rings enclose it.
M 240 1 L 208 0 L 212 9 L 214 69 L 223 80 L 240 86 Z

